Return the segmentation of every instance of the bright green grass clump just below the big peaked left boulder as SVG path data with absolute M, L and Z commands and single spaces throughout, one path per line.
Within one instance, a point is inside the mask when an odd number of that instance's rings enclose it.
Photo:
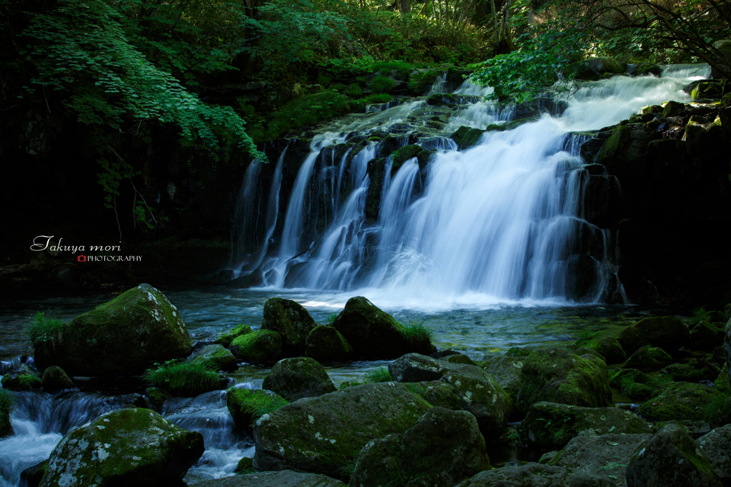
M 155 364 L 140 377 L 145 383 L 164 389 L 174 396 L 197 396 L 213 391 L 220 383 L 219 375 L 202 362 L 167 361 Z

